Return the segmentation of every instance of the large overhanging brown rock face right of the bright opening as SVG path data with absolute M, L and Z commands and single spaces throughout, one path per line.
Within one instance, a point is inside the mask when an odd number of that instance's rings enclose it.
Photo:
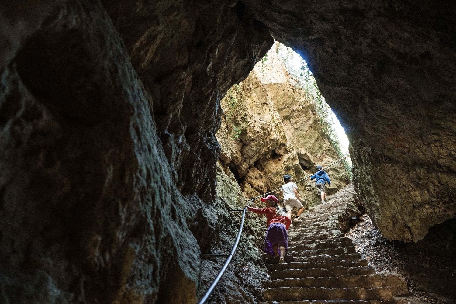
M 354 186 L 387 239 L 456 216 L 456 8 L 440 1 L 258 1 L 350 139 Z

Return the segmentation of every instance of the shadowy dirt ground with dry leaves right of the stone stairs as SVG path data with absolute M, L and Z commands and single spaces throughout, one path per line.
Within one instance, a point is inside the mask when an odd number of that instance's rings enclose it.
M 398 299 L 409 304 L 455 304 L 455 221 L 441 225 L 417 243 L 389 242 L 364 214 L 346 236 L 378 272 L 393 270 L 405 277 L 410 294 Z

